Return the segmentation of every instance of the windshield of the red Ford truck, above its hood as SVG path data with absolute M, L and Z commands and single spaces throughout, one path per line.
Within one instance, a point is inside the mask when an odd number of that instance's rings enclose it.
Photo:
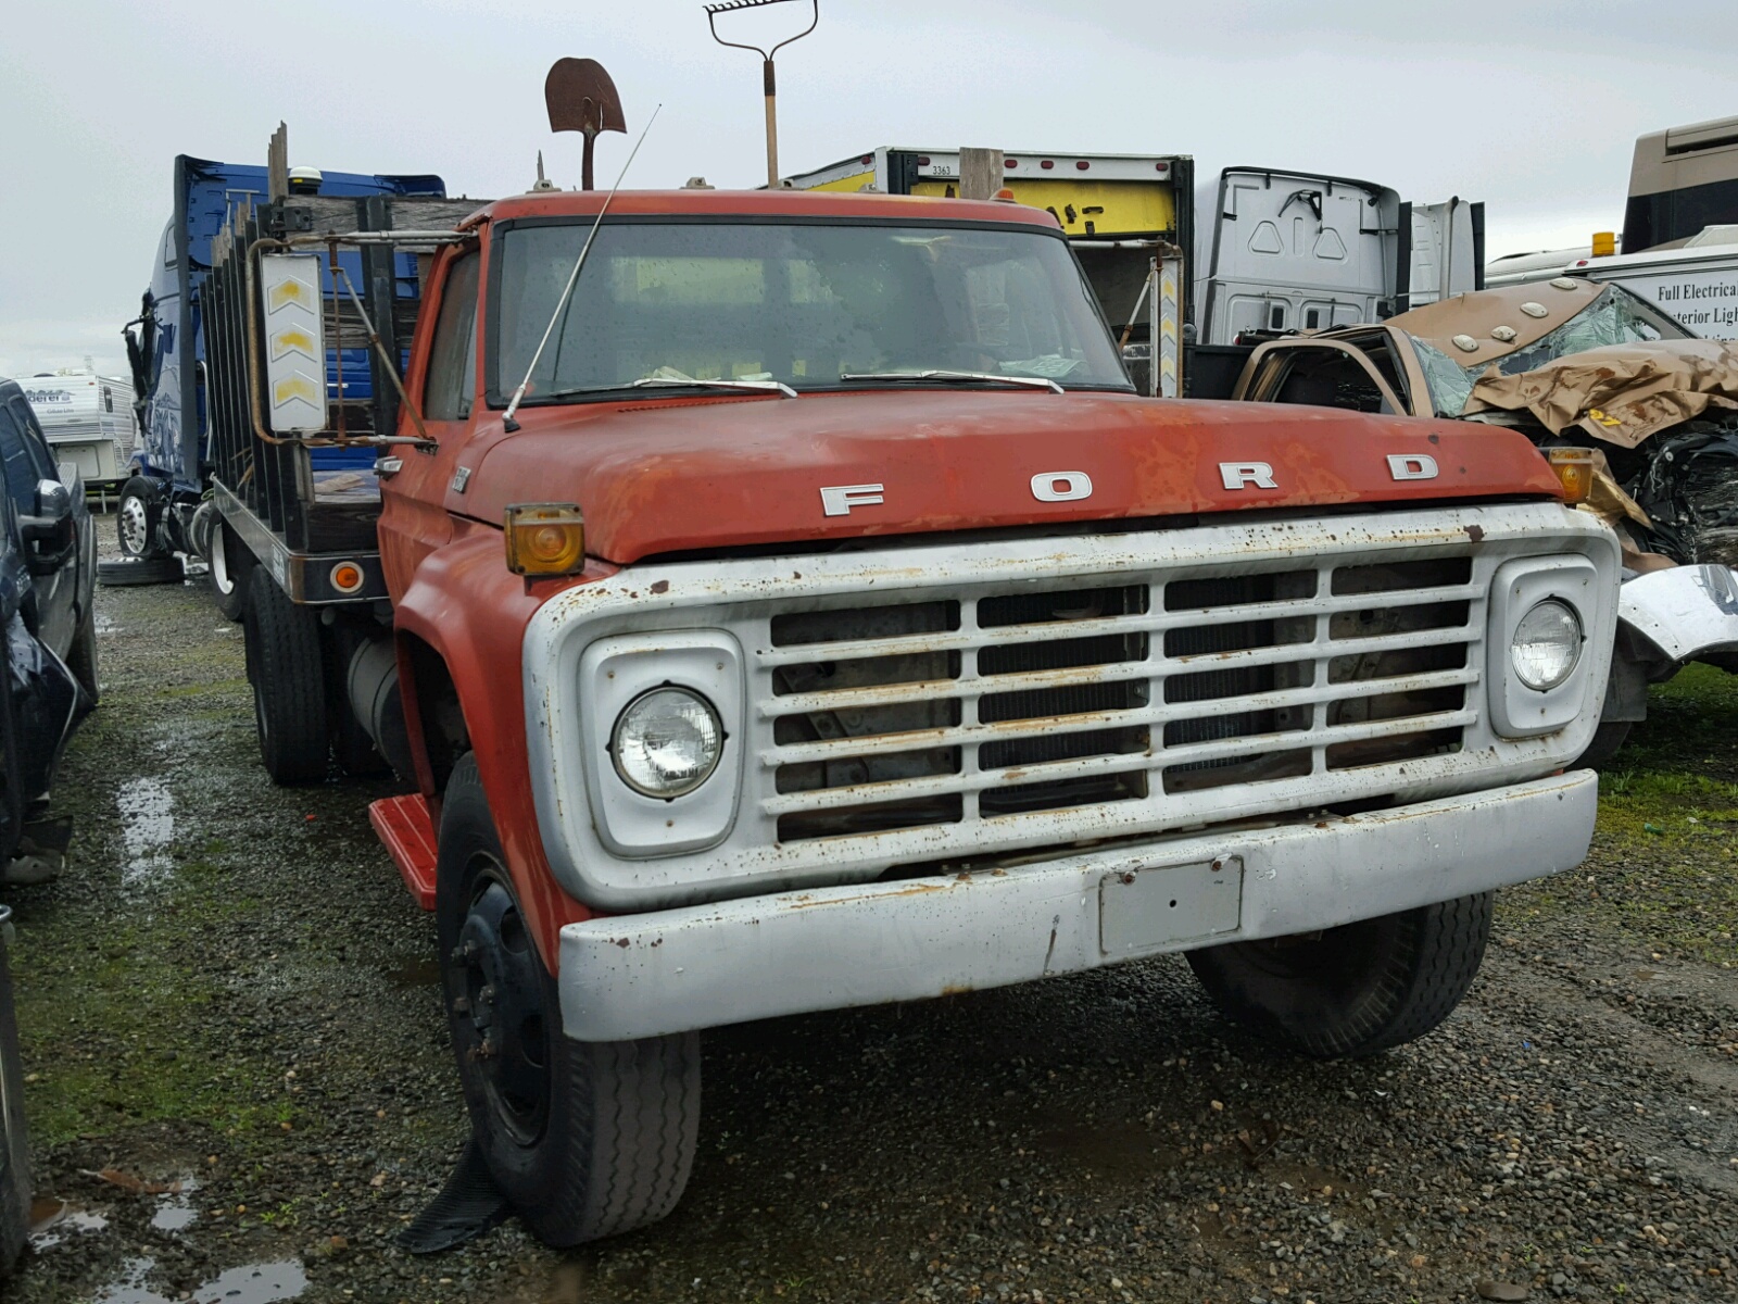
M 587 231 L 502 235 L 490 402 L 523 379 Z M 930 370 L 1130 388 L 1072 252 L 1043 231 L 624 221 L 598 231 L 525 402 L 643 379 L 839 389 Z

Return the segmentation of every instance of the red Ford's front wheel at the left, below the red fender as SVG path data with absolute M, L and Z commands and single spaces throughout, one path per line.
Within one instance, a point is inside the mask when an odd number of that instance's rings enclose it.
M 589 1043 L 561 1031 L 473 756 L 447 784 L 436 883 L 459 1081 L 501 1193 L 553 1247 L 657 1222 L 693 1167 L 699 1033 Z

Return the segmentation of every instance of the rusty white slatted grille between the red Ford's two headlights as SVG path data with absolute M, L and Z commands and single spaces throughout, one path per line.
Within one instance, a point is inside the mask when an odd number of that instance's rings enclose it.
M 763 808 L 791 843 L 1458 751 L 1483 610 L 1470 558 L 1439 556 L 784 612 Z

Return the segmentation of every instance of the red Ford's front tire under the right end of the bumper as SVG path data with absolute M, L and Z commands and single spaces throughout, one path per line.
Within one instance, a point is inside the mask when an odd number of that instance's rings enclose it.
M 1436 1028 L 1467 995 L 1493 892 L 1302 937 L 1189 953 L 1220 1012 L 1316 1059 L 1373 1055 Z

